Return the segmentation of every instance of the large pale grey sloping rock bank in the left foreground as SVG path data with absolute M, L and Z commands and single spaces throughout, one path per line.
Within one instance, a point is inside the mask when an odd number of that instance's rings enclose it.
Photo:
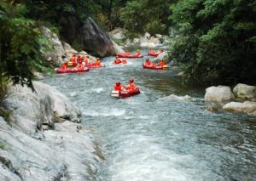
M 34 82 L 36 92 L 15 86 L 0 116 L 0 180 L 87 180 L 96 177 L 102 159 L 81 113 L 54 88 Z

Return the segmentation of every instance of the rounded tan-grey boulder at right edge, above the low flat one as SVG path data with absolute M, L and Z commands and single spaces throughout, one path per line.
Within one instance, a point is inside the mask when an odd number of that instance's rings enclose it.
M 233 89 L 233 93 L 235 93 L 236 98 L 253 99 L 256 98 L 256 86 L 239 83 Z

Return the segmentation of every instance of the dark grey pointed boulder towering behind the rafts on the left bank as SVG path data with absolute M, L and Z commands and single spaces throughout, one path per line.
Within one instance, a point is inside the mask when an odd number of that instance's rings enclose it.
M 83 25 L 83 48 L 100 56 L 119 54 L 108 34 L 94 20 L 88 18 Z

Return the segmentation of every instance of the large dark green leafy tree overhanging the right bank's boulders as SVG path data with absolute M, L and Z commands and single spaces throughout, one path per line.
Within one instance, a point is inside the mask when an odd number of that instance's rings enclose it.
M 186 0 L 172 7 L 174 59 L 186 82 L 256 82 L 256 3 L 253 0 Z

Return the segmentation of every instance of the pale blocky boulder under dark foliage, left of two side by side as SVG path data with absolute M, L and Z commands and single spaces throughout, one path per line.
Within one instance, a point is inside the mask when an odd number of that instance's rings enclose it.
M 231 92 L 231 88 L 228 86 L 212 86 L 207 88 L 205 94 L 205 100 L 209 102 L 222 102 L 234 99 L 234 94 Z

